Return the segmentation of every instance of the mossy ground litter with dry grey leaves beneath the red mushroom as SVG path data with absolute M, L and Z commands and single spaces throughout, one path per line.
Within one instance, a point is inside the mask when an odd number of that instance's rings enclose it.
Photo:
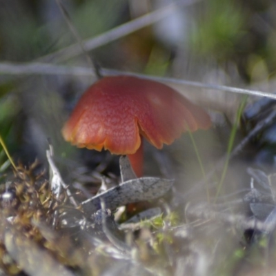
M 92 195 L 76 188 L 81 184 L 63 181 L 52 150 L 48 160 L 49 177 L 37 172 L 37 162 L 30 168 L 19 165 L 0 186 L 2 274 L 205 276 L 227 270 L 231 275 L 252 252 L 246 232 L 253 231 L 258 254 L 259 241 L 275 233 L 273 183 L 257 170 L 249 170 L 256 185 L 251 181 L 234 199 L 175 201 L 181 195 L 172 190 L 166 200 L 127 217 L 120 206 L 166 195 L 173 180 L 136 178 L 123 157 L 124 181 L 112 188 L 102 185 L 103 192 Z

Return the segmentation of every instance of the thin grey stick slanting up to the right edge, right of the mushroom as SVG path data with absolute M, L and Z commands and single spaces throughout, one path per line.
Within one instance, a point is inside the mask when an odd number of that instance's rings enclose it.
M 213 168 L 213 170 L 210 170 L 210 172 L 208 172 L 206 174 L 206 176 L 204 177 L 204 179 L 202 179 L 201 181 L 197 182 L 197 184 L 195 184 L 193 186 L 193 188 L 190 188 L 190 190 L 188 190 L 184 197 L 187 197 L 188 195 L 195 193 L 196 190 L 199 190 L 200 188 L 202 188 L 204 185 L 206 185 L 206 181 L 210 180 L 211 177 L 213 177 L 214 173 L 217 170 L 220 170 L 223 166 L 224 166 L 224 162 L 226 161 L 227 158 L 229 158 L 229 160 L 233 157 L 235 157 L 240 151 L 242 151 L 242 149 L 246 146 L 246 144 L 248 144 L 248 142 L 250 141 L 250 139 L 252 139 L 253 137 L 255 137 L 255 135 L 257 135 L 258 132 L 260 132 L 261 130 L 263 130 L 264 128 L 266 128 L 266 126 L 268 126 L 269 124 L 271 124 L 271 122 L 276 119 L 276 110 L 273 110 L 273 112 L 270 113 L 270 115 L 268 117 L 266 117 L 266 119 L 264 119 L 263 121 L 260 121 L 259 124 L 257 124 L 257 126 L 255 126 L 255 128 L 253 128 L 253 130 L 250 131 L 250 133 L 239 143 L 239 145 L 231 152 L 230 156 L 227 157 L 227 155 L 224 155 L 224 157 L 221 157 L 221 159 L 219 159 L 219 161 L 217 161 L 217 164 L 215 165 L 215 168 Z M 215 184 L 213 184 L 215 185 Z

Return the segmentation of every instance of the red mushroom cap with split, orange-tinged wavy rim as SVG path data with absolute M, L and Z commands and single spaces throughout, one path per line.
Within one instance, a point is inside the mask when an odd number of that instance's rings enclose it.
M 117 76 L 104 77 L 83 93 L 62 134 L 79 148 L 128 155 L 139 148 L 140 135 L 162 148 L 185 130 L 210 124 L 202 108 L 165 84 Z

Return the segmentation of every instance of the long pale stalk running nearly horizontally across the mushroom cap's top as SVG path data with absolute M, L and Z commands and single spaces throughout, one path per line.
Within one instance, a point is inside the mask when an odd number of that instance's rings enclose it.
M 258 97 L 268 97 L 270 99 L 276 99 L 276 94 L 271 92 L 264 92 L 260 90 L 250 90 L 244 88 L 237 88 L 233 86 L 219 86 L 217 84 L 201 83 L 198 81 L 186 81 L 184 79 L 174 79 L 168 77 L 155 77 L 150 75 L 136 74 L 130 72 L 123 72 L 118 70 L 101 70 L 103 76 L 110 75 L 131 75 L 135 77 L 141 77 L 143 79 L 152 79 L 154 81 L 161 81 L 164 83 L 178 83 L 183 86 L 192 86 L 204 89 L 221 90 L 226 92 L 235 92 L 238 94 L 247 94 Z M 76 76 L 92 76 L 90 68 L 81 66 L 60 66 L 50 63 L 10 63 L 0 62 L 0 74 L 2 75 L 76 75 Z

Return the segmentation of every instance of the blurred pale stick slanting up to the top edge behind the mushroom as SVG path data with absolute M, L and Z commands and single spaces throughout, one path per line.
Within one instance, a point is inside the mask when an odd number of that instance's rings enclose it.
M 193 5 L 201 0 L 179 0 L 175 3 L 172 3 L 164 8 L 160 8 L 159 10 L 155 10 L 154 12 L 150 12 L 144 16 L 138 17 L 132 21 L 128 21 L 120 25 L 119 27 L 115 27 L 108 32 L 103 34 L 99 34 L 97 37 L 93 37 L 92 39 L 83 40 L 83 48 L 87 52 L 90 50 L 94 50 L 95 48 L 99 48 L 104 46 L 112 41 L 120 39 L 121 37 L 125 37 L 132 32 L 136 32 L 141 28 L 146 26 L 150 26 L 161 19 L 168 17 L 172 12 L 179 10 L 181 7 L 186 7 Z M 57 62 L 66 61 L 72 57 L 77 57 L 78 55 L 83 54 L 83 49 L 79 45 L 79 43 L 73 44 L 72 46 L 68 46 L 61 50 L 57 50 L 57 52 L 53 52 L 52 54 L 46 55 L 44 57 L 40 57 L 37 61 L 52 61 L 55 60 Z

